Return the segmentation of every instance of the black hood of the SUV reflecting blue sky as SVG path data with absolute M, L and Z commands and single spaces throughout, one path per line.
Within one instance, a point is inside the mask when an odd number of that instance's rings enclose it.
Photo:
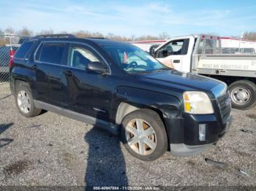
M 198 74 L 183 73 L 176 70 L 160 71 L 151 74 L 142 74 L 141 77 L 144 82 L 150 82 L 158 87 L 174 88 L 181 92 L 187 90 L 199 90 L 206 93 L 214 94 L 215 98 L 227 90 L 227 85 L 217 79 L 204 77 Z

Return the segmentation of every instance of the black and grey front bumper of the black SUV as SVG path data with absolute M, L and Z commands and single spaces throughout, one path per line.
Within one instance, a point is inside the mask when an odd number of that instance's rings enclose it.
M 184 118 L 165 120 L 173 155 L 189 156 L 203 152 L 216 143 L 230 126 L 231 117 L 223 124 L 214 114 L 185 114 Z M 199 125 L 206 125 L 206 140 L 199 139 Z

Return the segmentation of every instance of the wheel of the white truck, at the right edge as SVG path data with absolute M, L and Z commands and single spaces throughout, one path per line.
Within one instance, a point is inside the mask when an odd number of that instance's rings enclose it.
M 232 107 L 249 109 L 256 103 L 256 85 L 248 80 L 239 80 L 229 85 Z

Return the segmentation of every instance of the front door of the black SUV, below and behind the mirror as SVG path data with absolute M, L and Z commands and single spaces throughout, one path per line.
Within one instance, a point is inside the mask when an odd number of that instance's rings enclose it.
M 64 71 L 67 77 L 66 107 L 97 119 L 109 120 L 110 77 L 86 69 L 90 62 L 107 63 L 93 47 L 75 43 L 69 45 L 67 62 L 69 69 Z

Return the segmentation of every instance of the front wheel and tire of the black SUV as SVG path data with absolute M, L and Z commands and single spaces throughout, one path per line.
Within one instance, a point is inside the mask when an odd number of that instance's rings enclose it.
M 137 124 L 142 124 L 138 127 L 143 128 L 138 130 Z M 143 161 L 157 160 L 167 151 L 168 144 L 165 125 L 159 114 L 151 109 L 136 110 L 124 117 L 121 122 L 121 141 L 132 156 Z

